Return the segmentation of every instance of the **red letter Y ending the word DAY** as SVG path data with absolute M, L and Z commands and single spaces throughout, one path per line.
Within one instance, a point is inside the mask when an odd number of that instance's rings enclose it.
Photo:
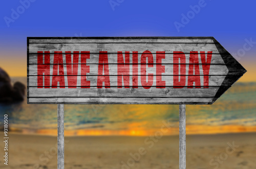
M 204 88 L 209 88 L 209 71 L 212 51 L 207 52 L 207 59 L 204 51 L 200 51 L 203 73 L 204 73 Z

